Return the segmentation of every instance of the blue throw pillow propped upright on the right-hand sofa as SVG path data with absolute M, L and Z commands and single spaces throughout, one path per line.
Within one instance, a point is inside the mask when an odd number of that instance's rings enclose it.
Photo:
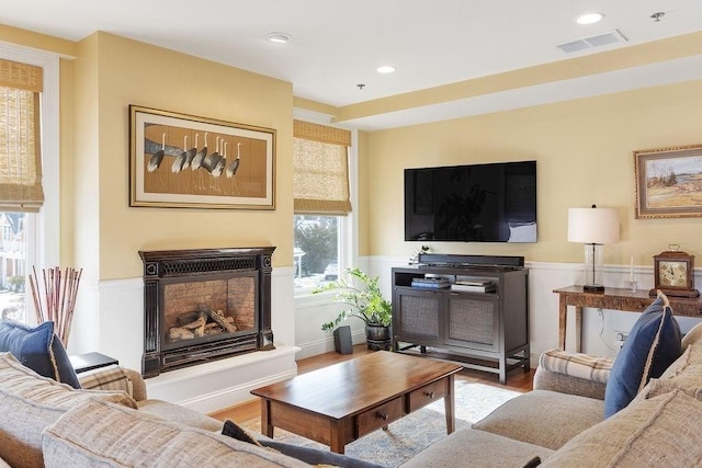
M 660 294 L 641 315 L 614 359 L 604 389 L 604 418 L 625 408 L 650 378 L 682 354 L 680 327 Z

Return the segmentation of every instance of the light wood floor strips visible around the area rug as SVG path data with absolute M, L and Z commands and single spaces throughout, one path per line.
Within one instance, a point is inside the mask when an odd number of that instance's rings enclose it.
M 305 374 L 317 370 L 342 361 L 352 359 L 363 354 L 372 353 L 365 344 L 356 344 L 353 346 L 353 354 L 338 354 L 336 352 L 325 353 L 305 359 L 297 361 L 297 374 Z M 534 369 L 525 373 L 522 369 L 514 369 L 507 374 L 507 384 L 501 385 L 497 379 L 497 374 L 485 373 L 479 370 L 463 369 L 456 374 L 456 379 L 467 380 L 472 383 L 480 383 L 494 385 L 496 387 L 509 388 L 516 391 L 529 391 L 532 389 L 534 378 Z M 258 398 L 251 396 L 251 401 L 247 401 L 236 407 L 227 408 L 222 411 L 210 414 L 220 421 L 231 420 L 235 422 L 248 421 L 261 415 L 261 403 Z

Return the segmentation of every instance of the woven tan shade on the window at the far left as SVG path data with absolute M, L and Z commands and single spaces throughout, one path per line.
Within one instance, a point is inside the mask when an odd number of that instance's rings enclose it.
M 0 210 L 36 213 L 44 202 L 41 84 L 41 68 L 0 60 Z

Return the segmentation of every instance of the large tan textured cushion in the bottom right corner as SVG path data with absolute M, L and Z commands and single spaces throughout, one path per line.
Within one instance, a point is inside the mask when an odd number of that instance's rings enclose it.
M 630 404 L 571 438 L 542 466 L 699 466 L 701 432 L 702 402 L 673 390 Z

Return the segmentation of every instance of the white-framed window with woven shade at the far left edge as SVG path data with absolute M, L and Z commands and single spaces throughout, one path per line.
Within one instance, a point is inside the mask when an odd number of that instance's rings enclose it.
M 58 62 L 0 44 L 0 313 L 30 323 L 27 273 L 59 264 Z M 18 165 L 18 155 L 29 165 Z

